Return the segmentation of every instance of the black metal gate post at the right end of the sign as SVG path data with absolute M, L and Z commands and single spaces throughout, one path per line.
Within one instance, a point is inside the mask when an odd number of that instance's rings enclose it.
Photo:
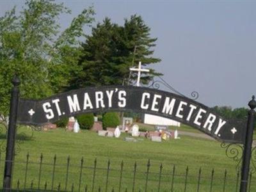
M 247 191 L 248 185 L 248 175 L 250 170 L 250 160 L 252 154 L 252 140 L 253 140 L 253 129 L 255 122 L 255 111 L 256 101 L 253 95 L 252 100 L 248 103 L 250 111 L 248 112 L 248 121 L 246 128 L 246 136 L 244 141 L 244 151 L 243 151 L 243 165 L 241 170 L 241 182 L 240 182 L 240 192 Z

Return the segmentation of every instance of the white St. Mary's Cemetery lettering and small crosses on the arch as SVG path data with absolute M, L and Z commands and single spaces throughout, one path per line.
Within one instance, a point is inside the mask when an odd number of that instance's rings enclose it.
M 161 92 L 152 92 L 151 90 L 143 90 L 145 92 L 131 92 L 130 90 L 118 90 L 118 88 L 104 88 L 100 91 L 97 88 L 97 91 L 85 90 L 84 92 L 77 93 L 67 93 L 69 95 L 61 95 L 60 98 L 54 97 L 52 100 L 43 101 L 41 111 L 43 112 L 45 122 L 48 120 L 58 119 L 58 116 L 66 115 L 71 116 L 72 113 L 81 113 L 86 112 L 86 110 L 95 109 L 98 111 L 100 109 L 113 108 L 118 111 L 121 111 L 127 107 L 127 109 L 134 109 L 136 111 L 141 111 L 142 113 L 145 110 L 148 113 L 152 113 L 159 116 L 164 116 L 166 118 L 173 118 L 185 124 L 191 125 L 193 127 L 199 127 L 201 131 L 207 133 L 211 132 L 211 135 L 214 137 L 218 136 L 221 138 L 226 138 L 227 132 L 224 132 L 221 136 L 220 132 L 223 127 L 228 129 L 230 134 L 236 134 L 236 131 L 239 132 L 239 129 L 231 129 L 225 125 L 227 122 L 220 118 L 218 115 L 211 113 L 207 107 L 204 107 L 196 102 L 186 100 L 183 97 L 175 97 L 172 94 L 168 95 Z M 138 94 L 141 94 L 141 100 L 138 98 Z M 169 97 L 167 97 L 167 95 Z M 127 97 L 132 97 L 127 100 Z M 62 100 L 61 100 L 62 99 Z M 81 99 L 81 100 L 80 100 Z M 129 102 L 128 102 L 129 101 Z M 44 103 L 45 102 L 45 103 Z M 129 106 L 127 106 L 129 105 Z M 200 108 L 201 106 L 201 108 Z M 69 107 L 69 111 L 68 108 Z M 29 107 L 30 109 L 31 107 Z M 39 118 L 36 108 L 33 108 L 29 111 L 29 117 L 35 113 L 33 119 Z M 63 111 L 67 110 L 67 111 Z M 49 121 L 48 121 L 49 122 Z M 226 127 L 227 126 L 227 127 Z

